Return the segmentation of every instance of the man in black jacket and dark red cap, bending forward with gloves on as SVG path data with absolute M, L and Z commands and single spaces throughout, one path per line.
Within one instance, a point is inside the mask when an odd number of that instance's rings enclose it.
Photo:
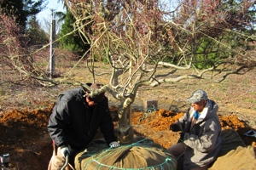
M 99 89 L 102 85 L 87 83 L 87 86 Z M 104 93 L 90 97 L 90 91 L 83 87 L 70 89 L 59 95 L 47 127 L 54 143 L 49 170 L 61 169 L 65 164 L 65 156 L 73 158 L 76 152 L 84 150 L 99 127 L 109 146 L 119 146 L 113 134 L 108 98 Z M 70 163 L 73 165 L 73 161 Z

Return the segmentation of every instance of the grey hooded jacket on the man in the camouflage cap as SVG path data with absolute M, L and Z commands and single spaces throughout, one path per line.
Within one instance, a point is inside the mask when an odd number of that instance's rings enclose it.
M 203 167 L 215 161 L 222 147 L 221 126 L 217 115 L 218 105 L 207 100 L 204 113 L 191 127 L 195 110 L 193 107 L 179 119 L 183 127 L 183 143 L 189 146 L 184 152 L 183 168 Z M 178 125 L 178 122 L 176 122 Z

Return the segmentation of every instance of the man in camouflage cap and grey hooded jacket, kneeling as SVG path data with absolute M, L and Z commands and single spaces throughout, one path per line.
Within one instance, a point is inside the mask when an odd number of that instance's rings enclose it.
M 181 133 L 178 143 L 168 151 L 178 162 L 183 161 L 183 167 L 177 169 L 207 169 L 217 159 L 222 145 L 218 105 L 201 89 L 195 90 L 187 101 L 191 104 L 187 113 L 170 126 L 173 132 Z

